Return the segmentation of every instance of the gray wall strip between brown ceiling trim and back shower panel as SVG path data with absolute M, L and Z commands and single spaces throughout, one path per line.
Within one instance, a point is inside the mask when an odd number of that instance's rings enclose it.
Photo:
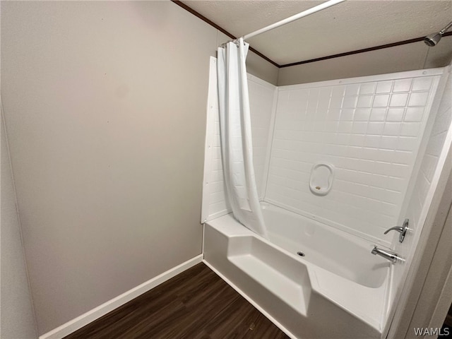
M 443 37 L 435 47 L 424 42 L 378 49 L 280 69 L 278 85 L 314 83 L 415 69 L 444 67 L 451 62 L 452 36 Z

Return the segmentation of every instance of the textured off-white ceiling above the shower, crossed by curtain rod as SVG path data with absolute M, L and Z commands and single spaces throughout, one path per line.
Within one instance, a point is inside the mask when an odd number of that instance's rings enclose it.
M 183 2 L 239 37 L 324 1 Z M 452 0 L 348 0 L 248 42 L 282 65 L 422 37 L 451 20 Z

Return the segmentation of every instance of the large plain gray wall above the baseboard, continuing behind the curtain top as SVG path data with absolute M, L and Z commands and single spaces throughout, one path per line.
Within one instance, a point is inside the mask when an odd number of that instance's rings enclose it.
M 169 1 L 2 1 L 1 94 L 40 334 L 201 253 L 219 36 Z M 278 69 L 250 61 L 276 83 Z

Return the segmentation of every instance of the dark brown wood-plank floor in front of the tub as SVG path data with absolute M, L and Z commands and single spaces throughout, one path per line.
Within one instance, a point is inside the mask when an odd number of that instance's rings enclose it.
M 289 338 L 203 263 L 65 339 Z

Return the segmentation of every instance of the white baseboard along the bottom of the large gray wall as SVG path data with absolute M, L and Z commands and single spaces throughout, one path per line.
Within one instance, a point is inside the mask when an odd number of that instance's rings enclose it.
M 124 292 L 122 295 L 119 295 L 109 300 L 108 302 L 105 302 L 95 309 L 92 309 L 85 314 L 78 316 L 76 319 L 68 321 L 67 323 L 64 323 L 63 325 L 55 328 L 54 330 L 40 335 L 39 339 L 64 338 L 66 335 L 69 335 L 77 331 L 79 328 L 88 325 L 88 323 L 99 319 L 101 316 L 104 316 L 108 312 L 113 311 L 117 307 L 126 304 L 126 302 L 130 302 L 131 299 L 142 295 L 144 292 L 148 292 L 148 290 L 152 290 L 154 287 L 160 285 L 161 283 L 165 283 L 166 280 L 169 280 L 175 275 L 183 272 L 184 270 L 195 266 L 197 263 L 201 263 L 201 261 L 203 261 L 203 254 L 199 254 L 198 256 L 195 256 L 194 258 L 191 258 L 190 260 L 185 261 L 184 263 L 181 263 L 180 265 L 173 267 L 160 275 L 157 275 L 155 278 L 152 278 L 141 285 L 133 287 L 131 290 Z

